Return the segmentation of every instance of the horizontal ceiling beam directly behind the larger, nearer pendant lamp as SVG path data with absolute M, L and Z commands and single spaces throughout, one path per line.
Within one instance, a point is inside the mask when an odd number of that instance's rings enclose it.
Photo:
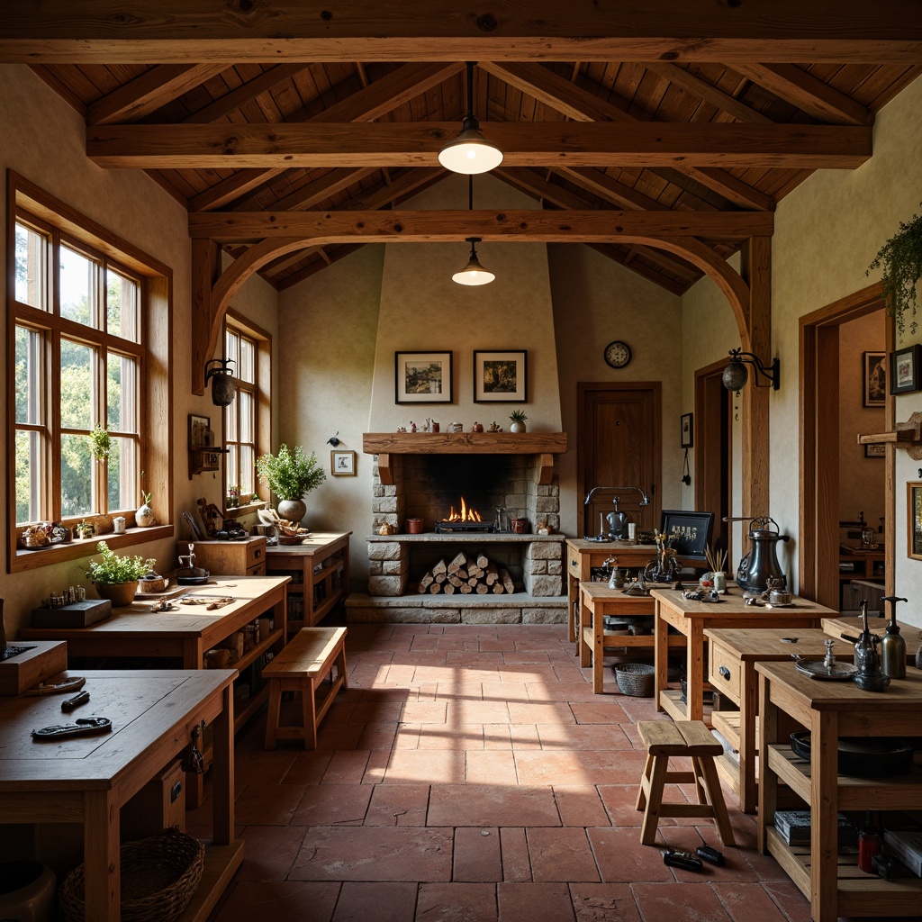
M 94 125 L 87 156 L 117 169 L 435 166 L 451 123 Z M 507 166 L 855 169 L 871 129 L 838 125 L 491 122 Z

